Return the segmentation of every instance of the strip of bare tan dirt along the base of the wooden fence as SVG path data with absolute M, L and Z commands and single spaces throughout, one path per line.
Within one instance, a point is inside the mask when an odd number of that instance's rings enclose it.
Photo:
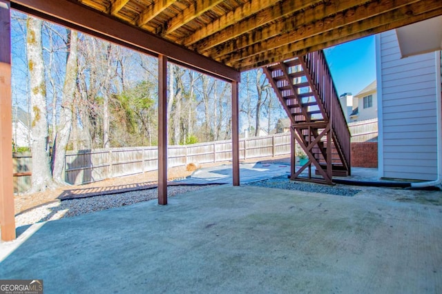
M 262 158 L 254 158 L 247 159 L 241 162 L 285 162 L 290 163 L 290 158 L 287 156 L 284 157 L 262 157 Z M 229 161 L 215 162 L 209 164 L 201 164 L 201 168 L 207 168 L 212 166 L 220 166 L 222 164 L 231 164 Z M 179 179 L 182 177 L 188 177 L 191 175 L 193 171 L 186 170 L 186 166 L 178 166 L 175 168 L 169 168 L 167 170 L 168 180 L 171 181 L 173 179 Z M 60 186 L 58 188 L 52 190 L 46 190 L 44 192 L 39 193 L 28 193 L 15 195 L 15 214 L 21 213 L 24 210 L 28 210 L 32 207 L 39 206 L 41 204 L 46 204 L 52 201 L 59 201 L 57 198 L 66 194 L 68 190 L 86 190 L 87 188 L 109 188 L 109 187 L 117 187 L 117 186 L 130 186 L 132 184 L 155 184 L 158 179 L 157 170 L 153 170 L 147 173 L 139 173 L 136 175 L 128 175 L 125 177 L 115 177 L 112 179 L 105 179 L 103 181 L 85 184 L 85 185 L 66 185 Z

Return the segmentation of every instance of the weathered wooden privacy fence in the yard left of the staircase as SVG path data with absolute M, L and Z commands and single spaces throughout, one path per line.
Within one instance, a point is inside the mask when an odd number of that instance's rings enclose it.
M 231 140 L 213 141 L 186 146 L 168 147 L 168 167 L 193 163 L 229 161 L 232 159 Z M 240 139 L 240 159 L 275 157 L 290 154 L 290 134 Z M 14 155 L 15 192 L 30 188 L 30 155 Z M 81 150 L 66 153 L 65 181 L 87 184 L 102 179 L 121 177 L 156 170 L 157 147 L 129 147 Z M 28 172 L 18 176 L 17 173 Z

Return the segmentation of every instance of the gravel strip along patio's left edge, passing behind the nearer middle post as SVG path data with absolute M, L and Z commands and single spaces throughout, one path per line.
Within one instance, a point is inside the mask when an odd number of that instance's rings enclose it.
M 167 195 L 171 197 L 177 194 L 187 193 L 203 188 L 207 188 L 207 186 L 169 186 L 167 188 Z M 45 222 L 64 217 L 74 217 L 76 215 L 94 213 L 95 211 L 99 210 L 131 205 L 152 199 L 157 199 L 157 188 L 64 200 L 61 202 L 51 202 L 17 215 L 15 217 L 15 225 L 20 227 L 28 224 L 35 224 L 36 222 Z

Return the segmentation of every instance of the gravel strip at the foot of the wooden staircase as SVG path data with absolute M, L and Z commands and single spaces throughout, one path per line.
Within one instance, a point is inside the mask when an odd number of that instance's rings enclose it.
M 265 179 L 263 181 L 253 182 L 249 185 L 285 190 L 298 190 L 303 192 L 325 193 L 349 197 L 353 197 L 357 193 L 361 192 L 361 190 L 356 190 L 352 188 L 341 188 L 337 186 L 325 186 L 321 184 L 292 182 L 287 179 L 287 177 L 273 177 L 272 179 Z

